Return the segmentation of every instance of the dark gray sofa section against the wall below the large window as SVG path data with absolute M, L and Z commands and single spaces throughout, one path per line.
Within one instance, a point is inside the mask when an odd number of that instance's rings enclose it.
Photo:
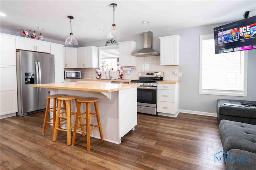
M 217 115 L 219 121 L 226 119 L 256 125 L 256 105 L 246 107 L 242 105 L 244 103 L 256 104 L 255 101 L 218 99 Z

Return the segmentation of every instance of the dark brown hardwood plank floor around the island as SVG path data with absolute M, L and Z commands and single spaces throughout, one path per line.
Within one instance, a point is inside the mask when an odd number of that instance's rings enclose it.
M 76 135 L 66 145 L 66 132 L 52 142 L 52 126 L 42 135 L 44 113 L 1 119 L 1 170 L 200 170 L 225 169 L 212 155 L 222 150 L 218 119 L 180 113 L 178 117 L 138 114 L 138 125 L 116 145 Z

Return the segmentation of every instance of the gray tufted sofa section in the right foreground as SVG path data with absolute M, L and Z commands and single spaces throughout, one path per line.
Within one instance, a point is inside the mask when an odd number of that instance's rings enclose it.
M 219 133 L 227 170 L 255 170 L 256 125 L 221 120 Z

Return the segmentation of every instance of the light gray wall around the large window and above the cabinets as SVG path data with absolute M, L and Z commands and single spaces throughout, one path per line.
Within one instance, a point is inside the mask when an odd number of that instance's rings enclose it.
M 182 77 L 180 77 L 180 109 L 182 110 L 216 113 L 216 101 L 218 99 L 256 101 L 256 50 L 248 51 L 247 97 L 199 94 L 199 36 L 213 34 L 213 28 L 223 24 L 153 32 L 153 48 L 160 53 L 160 39 L 158 37 L 180 35 L 180 72 L 182 72 Z M 143 47 L 143 38 L 143 35 L 140 34 L 123 37 L 117 41 L 136 41 L 139 50 Z M 83 45 L 100 47 L 104 46 L 105 43 L 106 41 L 102 40 Z

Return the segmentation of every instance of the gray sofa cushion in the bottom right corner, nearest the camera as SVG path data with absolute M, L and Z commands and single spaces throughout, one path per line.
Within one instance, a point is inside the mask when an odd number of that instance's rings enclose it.
M 234 158 L 234 161 L 226 161 L 227 170 L 255 170 L 255 153 L 239 149 L 231 149 L 228 151 L 228 154 L 230 157 Z M 240 160 L 238 160 L 238 157 L 240 158 Z

